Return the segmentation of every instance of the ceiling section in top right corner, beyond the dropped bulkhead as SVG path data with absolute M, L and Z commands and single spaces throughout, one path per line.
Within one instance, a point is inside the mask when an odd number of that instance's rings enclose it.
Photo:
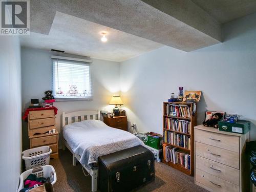
M 220 23 L 256 12 L 255 0 L 191 0 Z

